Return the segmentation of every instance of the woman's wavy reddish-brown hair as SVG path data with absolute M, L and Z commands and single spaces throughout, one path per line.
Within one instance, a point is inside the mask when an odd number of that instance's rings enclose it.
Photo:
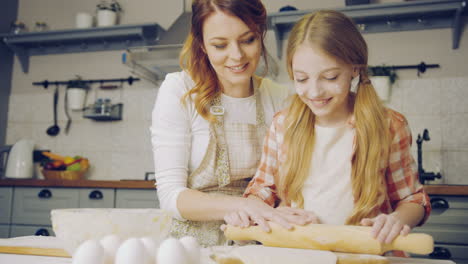
M 260 0 L 193 0 L 191 29 L 182 47 L 180 65 L 188 72 L 195 86 L 181 101 L 185 104 L 188 97 L 195 95 L 195 109 L 210 122 L 215 121 L 215 118 L 209 112 L 209 107 L 221 91 L 216 72 L 203 48 L 203 23 L 217 10 L 238 17 L 260 37 L 265 68 L 268 68 L 263 42 L 267 30 L 266 9 Z

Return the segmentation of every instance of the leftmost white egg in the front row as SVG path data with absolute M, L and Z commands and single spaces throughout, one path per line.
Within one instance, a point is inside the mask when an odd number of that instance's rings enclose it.
M 87 240 L 76 249 L 72 264 L 104 264 L 104 248 L 96 240 Z

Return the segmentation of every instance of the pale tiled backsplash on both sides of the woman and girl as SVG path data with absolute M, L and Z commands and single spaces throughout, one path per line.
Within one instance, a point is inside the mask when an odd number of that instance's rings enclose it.
M 72 112 L 72 127 L 65 135 L 63 127 L 63 91 L 59 104 L 61 133 L 46 135 L 52 123 L 52 93 L 37 91 L 13 93 L 10 98 L 7 143 L 32 138 L 39 147 L 64 155 L 80 154 L 93 165 L 90 179 L 143 179 L 153 171 L 149 126 L 157 89 L 141 82 L 137 87 L 116 90 L 109 95 L 124 104 L 123 121 L 96 122 Z M 121 94 L 120 94 L 121 93 Z M 99 94 L 102 96 L 102 94 Z M 94 98 L 93 92 L 88 99 Z M 424 128 L 430 141 L 423 143 L 426 171 L 440 171 L 439 183 L 468 184 L 468 78 L 399 80 L 391 90 L 388 106 L 403 113 L 416 138 Z M 90 102 L 90 100 L 88 100 Z

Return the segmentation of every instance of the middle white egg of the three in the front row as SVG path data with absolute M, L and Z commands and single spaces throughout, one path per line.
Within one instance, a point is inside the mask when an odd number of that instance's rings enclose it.
M 120 245 L 115 255 L 115 264 L 153 264 L 145 246 L 138 238 L 129 238 Z

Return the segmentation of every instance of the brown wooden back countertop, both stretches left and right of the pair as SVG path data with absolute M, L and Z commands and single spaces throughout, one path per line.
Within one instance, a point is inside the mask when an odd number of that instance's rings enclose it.
M 0 186 L 21 187 L 73 187 L 73 188 L 128 188 L 128 189 L 154 189 L 155 181 L 120 180 L 120 181 L 93 181 L 93 180 L 36 180 L 36 179 L 2 179 Z M 468 185 L 425 185 L 430 195 L 468 195 Z

